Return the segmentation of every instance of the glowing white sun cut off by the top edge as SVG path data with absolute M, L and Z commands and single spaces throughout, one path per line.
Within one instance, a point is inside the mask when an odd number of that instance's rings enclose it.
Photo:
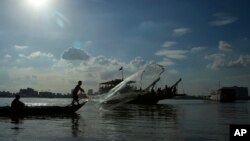
M 47 8 L 49 0 L 26 0 L 27 4 L 36 10 Z

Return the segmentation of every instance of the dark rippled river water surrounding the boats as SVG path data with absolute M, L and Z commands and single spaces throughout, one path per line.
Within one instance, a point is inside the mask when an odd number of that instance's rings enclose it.
M 12 99 L 0 98 L 0 106 Z M 28 105 L 67 105 L 71 99 L 22 98 Z M 112 110 L 88 102 L 74 115 L 13 122 L 0 117 L 1 141 L 193 141 L 229 140 L 230 124 L 250 124 L 250 101 L 218 103 L 164 100 Z

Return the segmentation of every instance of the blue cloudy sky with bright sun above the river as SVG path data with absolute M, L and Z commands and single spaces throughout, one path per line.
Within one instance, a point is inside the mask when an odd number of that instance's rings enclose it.
M 248 0 L 1 0 L 0 91 L 69 93 L 155 62 L 159 86 L 250 86 Z

